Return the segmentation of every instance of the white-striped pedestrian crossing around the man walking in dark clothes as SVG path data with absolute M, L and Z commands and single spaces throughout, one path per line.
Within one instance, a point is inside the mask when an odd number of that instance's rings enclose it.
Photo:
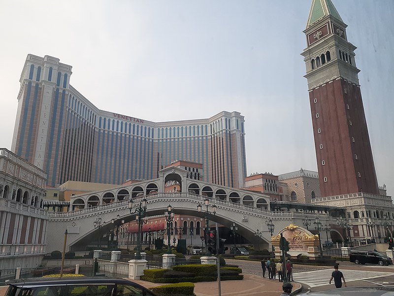
M 329 279 L 333 269 L 319 269 L 313 271 L 298 272 L 293 274 L 294 281 L 308 285 L 309 287 L 318 287 L 329 285 Z M 384 276 L 392 276 L 394 272 L 379 272 L 366 270 L 346 270 L 340 269 L 346 282 L 360 281 L 366 279 L 379 278 Z M 331 284 L 333 285 L 334 280 Z

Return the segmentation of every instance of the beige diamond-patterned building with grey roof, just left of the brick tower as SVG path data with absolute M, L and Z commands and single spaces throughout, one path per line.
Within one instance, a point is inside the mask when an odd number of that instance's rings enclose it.
M 278 176 L 281 183 L 286 184 L 284 192 L 288 201 L 311 203 L 312 199 L 320 197 L 319 174 L 317 172 L 300 169 L 296 172 Z M 285 191 L 285 190 L 284 190 Z

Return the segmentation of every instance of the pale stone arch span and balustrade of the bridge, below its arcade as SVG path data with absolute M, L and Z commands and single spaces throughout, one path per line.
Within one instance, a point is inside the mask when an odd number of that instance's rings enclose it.
M 320 222 L 323 224 L 328 223 L 329 220 L 328 214 L 324 213 L 270 211 L 186 192 L 155 193 L 137 196 L 133 198 L 133 209 L 144 198 L 148 201 L 147 216 L 149 217 L 164 216 L 168 204 L 171 204 L 175 214 L 201 218 L 204 213 L 197 211 L 197 205 L 203 205 L 204 199 L 208 198 L 210 205 L 215 204 L 217 206 L 216 215 L 209 215 L 210 221 L 218 222 L 228 228 L 235 221 L 238 225 L 237 233 L 249 241 L 256 243 L 257 238 L 254 234 L 257 229 L 261 230 L 263 233 L 259 243 L 261 248 L 264 249 L 268 249 L 268 244 L 271 240 L 271 235 L 265 225 L 266 220 L 272 219 L 276 230 L 274 235 L 290 223 L 302 225 L 302 219 L 305 217 L 314 221 L 315 217 L 318 216 Z M 112 230 L 114 225 L 111 223 L 111 219 L 116 218 L 117 215 L 119 215 L 120 220 L 125 220 L 125 222 L 135 220 L 135 214 L 130 214 L 127 199 L 77 211 L 51 212 L 48 215 L 47 243 L 51 249 L 48 250 L 49 252 L 63 250 L 64 232 L 66 229 L 68 232 L 66 250 L 77 250 L 78 246 L 86 246 L 90 242 L 96 241 L 99 231 L 106 233 Z M 102 219 L 101 224 L 106 222 L 100 229 L 94 228 L 93 226 L 94 221 L 98 217 Z

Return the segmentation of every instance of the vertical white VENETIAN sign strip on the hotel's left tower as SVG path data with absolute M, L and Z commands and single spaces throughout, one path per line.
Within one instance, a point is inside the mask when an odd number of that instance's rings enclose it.
M 43 96 L 41 113 L 39 117 L 39 129 L 37 134 L 37 145 L 35 147 L 34 165 L 43 169 L 44 166 L 44 155 L 45 147 L 48 138 L 48 127 L 49 127 L 49 114 L 51 111 L 52 104 L 52 93 L 53 88 L 49 84 L 42 84 Z

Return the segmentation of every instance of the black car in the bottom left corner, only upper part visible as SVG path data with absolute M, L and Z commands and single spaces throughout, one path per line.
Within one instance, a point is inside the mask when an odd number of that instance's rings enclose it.
M 5 296 L 158 296 L 121 278 L 61 277 L 8 280 Z

